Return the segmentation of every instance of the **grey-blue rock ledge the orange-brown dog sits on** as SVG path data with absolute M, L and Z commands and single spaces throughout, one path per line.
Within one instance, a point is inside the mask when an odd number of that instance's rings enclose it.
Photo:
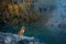
M 41 44 L 34 37 L 0 32 L 0 44 Z

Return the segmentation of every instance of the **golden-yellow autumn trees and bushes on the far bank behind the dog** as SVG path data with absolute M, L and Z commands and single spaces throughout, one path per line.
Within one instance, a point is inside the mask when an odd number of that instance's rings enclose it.
M 1 2 L 1 13 L 4 23 L 16 25 L 22 22 L 34 23 L 37 21 L 40 13 L 32 7 L 32 0 L 22 2 Z

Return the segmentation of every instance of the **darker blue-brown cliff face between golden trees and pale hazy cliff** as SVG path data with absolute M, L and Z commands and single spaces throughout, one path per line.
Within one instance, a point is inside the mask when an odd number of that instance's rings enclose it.
M 34 9 L 40 12 L 40 16 L 35 25 L 45 25 L 56 10 L 57 1 L 55 0 L 37 0 L 34 1 Z

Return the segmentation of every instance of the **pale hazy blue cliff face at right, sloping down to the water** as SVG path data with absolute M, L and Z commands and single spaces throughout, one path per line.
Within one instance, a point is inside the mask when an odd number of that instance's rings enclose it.
M 66 1 L 57 0 L 57 9 L 53 12 L 53 16 L 48 20 L 47 25 L 53 28 L 66 28 Z

